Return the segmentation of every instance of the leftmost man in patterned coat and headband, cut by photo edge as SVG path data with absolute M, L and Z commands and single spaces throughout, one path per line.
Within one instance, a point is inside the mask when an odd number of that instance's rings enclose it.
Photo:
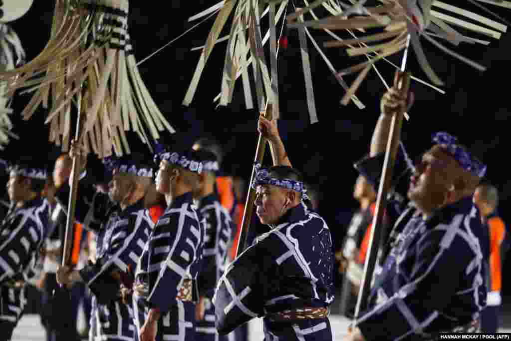
M 12 203 L 0 223 L 0 340 L 11 339 L 27 303 L 26 284 L 48 234 L 50 205 L 41 196 L 46 171 L 32 156 L 9 165 L 7 192 Z

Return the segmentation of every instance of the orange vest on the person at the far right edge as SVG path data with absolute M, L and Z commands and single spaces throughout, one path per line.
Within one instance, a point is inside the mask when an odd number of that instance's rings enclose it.
M 490 286 L 489 291 L 502 288 L 502 242 L 506 234 L 504 221 L 493 216 L 487 221 L 490 234 Z

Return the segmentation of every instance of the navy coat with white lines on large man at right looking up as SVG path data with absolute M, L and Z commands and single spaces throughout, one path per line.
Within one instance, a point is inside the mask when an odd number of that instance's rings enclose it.
M 405 155 L 402 148 L 394 169 L 395 188 L 401 189 L 401 194 L 394 194 L 399 198 L 406 197 L 412 172 Z M 383 154 L 356 166 L 376 184 Z M 387 213 L 393 229 L 386 258 L 375 270 L 368 309 L 358 321 L 365 339 L 433 339 L 440 331 L 471 325 L 486 294 L 477 237 L 481 219 L 472 197 L 439 209 L 428 219 L 402 199 L 390 200 Z

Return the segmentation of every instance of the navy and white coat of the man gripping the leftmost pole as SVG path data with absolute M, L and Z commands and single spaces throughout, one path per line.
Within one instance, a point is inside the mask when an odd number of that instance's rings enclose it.
M 94 294 L 89 337 L 132 340 L 135 334 L 132 306 L 121 302 L 121 283 L 111 274 L 135 269 L 154 224 L 143 199 L 121 210 L 107 194 L 97 192 L 90 180 L 87 177 L 80 180 L 76 201 L 76 219 L 96 233 L 96 261 L 80 270 L 80 276 Z M 64 191 L 65 188 L 59 190 L 57 197 L 64 199 L 68 188 Z

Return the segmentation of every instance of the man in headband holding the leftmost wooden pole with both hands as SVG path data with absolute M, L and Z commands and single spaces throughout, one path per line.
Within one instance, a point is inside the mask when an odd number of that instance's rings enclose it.
M 77 158 L 78 169 L 84 170 L 86 159 L 76 146 L 70 155 Z M 144 163 L 142 156 L 132 154 L 110 161 L 106 165 L 112 172 L 108 194 L 96 191 L 94 179 L 86 174 L 80 180 L 76 200 L 76 219 L 96 233 L 96 260 L 80 270 L 59 267 L 57 282 L 84 282 L 94 294 L 91 339 L 126 340 L 135 337 L 135 327 L 131 301 L 120 297 L 121 284 L 131 288 L 132 278 L 126 274 L 135 269 L 154 225 L 145 203 L 153 171 L 152 162 Z M 68 192 L 65 184 L 60 187 L 56 196 L 61 203 Z

